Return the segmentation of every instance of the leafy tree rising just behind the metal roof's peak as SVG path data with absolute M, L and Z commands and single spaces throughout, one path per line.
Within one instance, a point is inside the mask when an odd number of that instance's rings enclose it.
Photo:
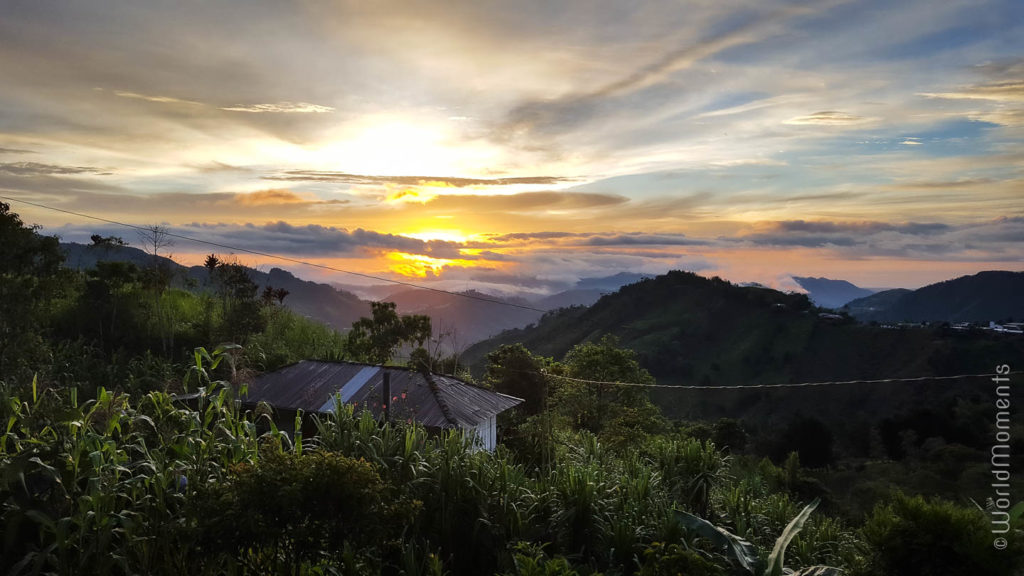
M 352 323 L 345 352 L 357 360 L 385 364 L 402 344 L 423 343 L 430 338 L 430 317 L 399 316 L 394 302 L 371 302 L 373 318 L 360 318 Z

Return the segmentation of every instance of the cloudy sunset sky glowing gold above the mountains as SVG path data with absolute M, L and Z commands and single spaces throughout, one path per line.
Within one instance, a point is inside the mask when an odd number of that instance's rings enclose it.
M 384 278 L 1024 270 L 1019 0 L 3 0 L 0 78 L 0 196 Z

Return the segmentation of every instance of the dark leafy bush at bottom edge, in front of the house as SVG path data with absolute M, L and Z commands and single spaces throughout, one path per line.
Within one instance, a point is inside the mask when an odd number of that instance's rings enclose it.
M 233 466 L 223 482 L 206 485 L 197 496 L 199 551 L 230 553 L 261 574 L 341 564 L 349 549 L 366 557 L 379 541 L 397 536 L 388 530 L 400 526 L 400 517 L 413 508 L 388 500 L 386 486 L 364 460 L 271 451 Z

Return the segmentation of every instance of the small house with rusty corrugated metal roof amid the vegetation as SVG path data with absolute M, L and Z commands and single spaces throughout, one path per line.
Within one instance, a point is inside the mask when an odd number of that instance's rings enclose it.
M 331 412 L 336 397 L 356 411 L 371 410 L 377 419 L 416 421 L 433 429 L 472 430 L 486 450 L 494 450 L 497 442 L 498 414 L 523 402 L 454 376 L 313 360 L 256 376 L 242 401 L 249 406 L 265 402 L 286 417 L 298 410 L 306 414 Z

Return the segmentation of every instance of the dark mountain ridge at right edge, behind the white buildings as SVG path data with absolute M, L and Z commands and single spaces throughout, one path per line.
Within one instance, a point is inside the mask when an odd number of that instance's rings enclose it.
M 887 290 L 847 304 L 862 321 L 989 322 L 1024 320 L 1024 272 L 989 271 L 912 291 Z

